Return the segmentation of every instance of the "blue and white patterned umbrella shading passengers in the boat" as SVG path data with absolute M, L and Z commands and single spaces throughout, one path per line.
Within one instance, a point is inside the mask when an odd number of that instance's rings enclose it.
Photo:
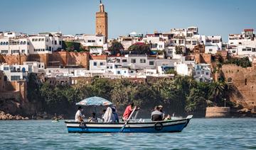
M 75 103 L 75 105 L 112 105 L 112 102 L 106 100 L 105 98 L 94 96 L 90 98 L 85 98 L 84 100 Z

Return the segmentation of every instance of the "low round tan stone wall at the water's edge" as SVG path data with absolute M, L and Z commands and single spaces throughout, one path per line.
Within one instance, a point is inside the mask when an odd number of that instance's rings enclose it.
M 208 107 L 206 108 L 206 117 L 230 117 L 230 108 Z

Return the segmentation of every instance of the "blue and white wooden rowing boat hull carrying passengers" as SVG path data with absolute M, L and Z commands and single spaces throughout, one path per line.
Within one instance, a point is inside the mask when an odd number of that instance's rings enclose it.
M 158 121 L 158 122 L 128 122 L 122 130 L 124 133 L 130 132 L 181 132 L 191 120 L 193 115 L 178 120 Z M 74 122 L 65 121 L 68 132 L 78 133 L 104 133 L 119 132 L 124 126 L 124 122 Z

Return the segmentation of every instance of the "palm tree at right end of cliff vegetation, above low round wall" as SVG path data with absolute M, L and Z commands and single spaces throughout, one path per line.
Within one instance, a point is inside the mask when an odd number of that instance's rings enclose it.
M 217 103 L 217 98 L 223 96 L 226 84 L 224 82 L 214 82 L 210 84 L 209 93 L 213 96 L 215 103 Z

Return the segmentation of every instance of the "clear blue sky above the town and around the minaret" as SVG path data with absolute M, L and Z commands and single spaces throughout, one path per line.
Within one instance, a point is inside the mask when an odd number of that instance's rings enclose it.
M 95 34 L 99 0 L 1 0 L 0 31 Z M 256 30 L 255 0 L 102 0 L 109 38 L 197 26 L 202 35 Z

